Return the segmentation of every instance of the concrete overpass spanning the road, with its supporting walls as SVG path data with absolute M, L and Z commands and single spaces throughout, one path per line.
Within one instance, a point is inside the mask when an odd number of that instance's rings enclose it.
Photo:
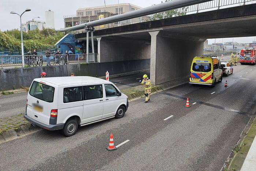
M 100 62 L 150 59 L 153 84 L 188 77 L 207 38 L 256 36 L 256 4 L 94 31 Z M 86 33 L 75 35 L 86 40 Z

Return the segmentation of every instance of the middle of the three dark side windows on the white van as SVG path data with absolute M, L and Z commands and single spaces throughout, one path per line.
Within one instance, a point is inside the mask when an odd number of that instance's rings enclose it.
M 102 85 L 83 86 L 84 100 L 103 97 Z

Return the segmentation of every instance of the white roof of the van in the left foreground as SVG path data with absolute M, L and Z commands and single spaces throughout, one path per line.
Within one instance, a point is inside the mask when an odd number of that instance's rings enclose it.
M 46 77 L 46 78 L 36 78 L 35 81 L 42 81 L 55 84 L 57 86 L 60 85 L 70 85 L 70 84 L 81 84 L 81 83 L 109 83 L 101 78 L 96 77 L 88 77 L 88 76 L 75 76 L 75 77 Z

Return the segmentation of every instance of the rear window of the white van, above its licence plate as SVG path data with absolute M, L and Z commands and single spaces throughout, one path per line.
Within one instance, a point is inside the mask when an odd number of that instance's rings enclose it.
M 54 90 L 55 88 L 52 86 L 34 81 L 29 90 L 29 94 L 40 100 L 52 103 Z

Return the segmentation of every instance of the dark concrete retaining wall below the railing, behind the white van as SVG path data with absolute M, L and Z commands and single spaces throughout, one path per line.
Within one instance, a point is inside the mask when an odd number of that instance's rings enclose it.
M 0 90 L 10 90 L 15 86 L 28 87 L 34 78 L 41 77 L 44 71 L 47 77 L 63 77 L 75 73 L 76 76 L 101 77 L 108 71 L 111 74 L 121 74 L 150 68 L 150 59 L 127 60 L 118 62 L 74 64 L 64 66 L 45 66 L 31 68 L 12 68 L 0 70 Z

